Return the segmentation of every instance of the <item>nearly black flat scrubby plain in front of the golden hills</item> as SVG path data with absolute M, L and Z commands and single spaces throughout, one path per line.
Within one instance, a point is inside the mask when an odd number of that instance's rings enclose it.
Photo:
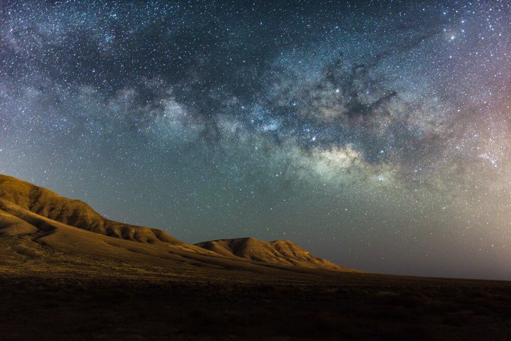
M 146 272 L 4 271 L 0 340 L 511 340 L 509 282 Z

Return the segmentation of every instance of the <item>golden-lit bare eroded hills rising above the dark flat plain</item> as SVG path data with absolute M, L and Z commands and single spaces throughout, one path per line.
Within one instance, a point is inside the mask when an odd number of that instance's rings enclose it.
M 197 267 L 260 274 L 354 271 L 312 256 L 289 241 L 244 238 L 191 245 L 161 230 L 106 219 L 83 201 L 0 175 L 0 258 L 12 264 L 34 259 L 50 264 L 44 257 L 56 253 L 74 259 L 88 257 L 92 263 L 99 257 L 173 271 L 197 271 Z

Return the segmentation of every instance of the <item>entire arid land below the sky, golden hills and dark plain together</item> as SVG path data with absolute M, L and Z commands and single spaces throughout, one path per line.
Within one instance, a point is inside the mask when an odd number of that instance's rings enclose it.
M 510 340 L 511 283 L 367 274 L 290 241 L 196 245 L 0 175 L 0 341 Z

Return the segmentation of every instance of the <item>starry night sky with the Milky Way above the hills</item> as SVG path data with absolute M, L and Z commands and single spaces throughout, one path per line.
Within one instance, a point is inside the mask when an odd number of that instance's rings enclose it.
M 507 1 L 2 1 L 0 173 L 189 243 L 511 280 Z

